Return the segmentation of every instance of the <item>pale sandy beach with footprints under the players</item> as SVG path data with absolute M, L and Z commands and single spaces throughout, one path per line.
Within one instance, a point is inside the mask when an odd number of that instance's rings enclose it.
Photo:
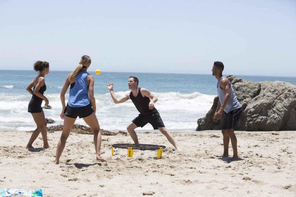
M 232 162 L 218 157 L 221 131 L 173 133 L 183 152 L 160 133 L 138 133 L 140 143 L 166 146 L 162 159 L 140 150 L 127 157 L 126 149 L 112 157 L 111 144 L 131 138 L 102 136 L 103 163 L 92 135 L 71 133 L 59 165 L 53 161 L 61 131 L 48 133 L 49 149 L 40 134 L 35 152 L 25 149 L 30 135 L 0 132 L 0 188 L 41 188 L 44 196 L 296 196 L 296 131 L 237 131 L 240 160 Z

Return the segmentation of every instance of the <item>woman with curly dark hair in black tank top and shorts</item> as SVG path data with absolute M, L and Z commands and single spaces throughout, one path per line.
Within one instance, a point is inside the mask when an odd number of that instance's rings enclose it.
M 27 91 L 32 95 L 32 98 L 28 105 L 28 112 L 33 116 L 33 119 L 37 125 L 35 131 L 33 131 L 32 136 L 26 146 L 26 149 L 33 148 L 32 144 L 41 132 L 43 138 L 43 148 L 49 148 L 47 142 L 47 132 L 46 132 L 46 120 L 44 112 L 41 108 L 42 101 L 45 101 L 45 105 L 48 105 L 48 99 L 43 95 L 46 90 L 45 85 L 45 75 L 49 73 L 49 63 L 46 61 L 36 61 L 34 64 L 34 70 L 38 71 L 38 75 L 29 83 Z M 33 87 L 33 90 L 32 90 Z

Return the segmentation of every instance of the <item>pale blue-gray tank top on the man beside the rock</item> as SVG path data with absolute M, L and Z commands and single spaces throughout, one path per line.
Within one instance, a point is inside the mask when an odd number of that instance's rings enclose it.
M 227 79 L 227 77 L 221 76 L 221 78 L 220 78 L 220 80 L 218 82 L 218 86 L 217 86 L 218 96 L 219 96 L 219 100 L 220 100 L 221 105 L 222 105 L 222 103 L 224 101 L 224 97 L 225 97 L 224 91 L 220 87 L 220 82 L 221 82 L 221 79 L 222 78 L 226 78 Z M 227 79 L 227 80 L 229 81 L 229 79 Z M 229 83 L 230 83 L 230 81 L 229 81 Z M 229 113 L 232 110 L 236 110 L 236 109 L 242 107 L 242 105 L 237 100 L 237 96 L 235 95 L 235 92 L 232 89 L 231 83 L 230 83 L 230 88 L 229 89 L 230 89 L 230 98 L 229 98 L 229 101 L 228 101 L 226 107 L 224 108 L 224 111 L 226 113 Z

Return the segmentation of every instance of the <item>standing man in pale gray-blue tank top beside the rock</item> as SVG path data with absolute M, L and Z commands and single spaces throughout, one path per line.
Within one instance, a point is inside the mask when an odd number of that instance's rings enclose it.
M 237 125 L 239 117 L 242 114 L 242 105 L 237 100 L 237 96 L 235 95 L 231 82 L 229 81 L 229 79 L 222 75 L 223 69 L 224 65 L 222 62 L 214 62 L 212 74 L 218 80 L 217 92 L 219 101 L 213 120 L 215 122 L 220 120 L 224 111 L 225 117 L 222 127 L 224 152 L 221 157 L 229 156 L 228 147 L 230 139 L 233 149 L 233 160 L 237 160 L 237 138 L 234 134 L 234 127 Z

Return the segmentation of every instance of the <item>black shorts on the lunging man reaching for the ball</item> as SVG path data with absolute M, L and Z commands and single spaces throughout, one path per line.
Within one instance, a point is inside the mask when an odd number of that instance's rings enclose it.
M 143 127 L 147 123 L 150 123 L 153 126 L 154 130 L 157 130 L 159 127 L 165 127 L 165 124 L 163 123 L 163 120 L 161 119 L 159 113 L 155 113 L 152 115 L 139 114 L 139 116 L 133 119 L 132 122 L 135 123 L 137 127 Z

